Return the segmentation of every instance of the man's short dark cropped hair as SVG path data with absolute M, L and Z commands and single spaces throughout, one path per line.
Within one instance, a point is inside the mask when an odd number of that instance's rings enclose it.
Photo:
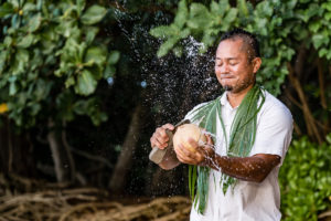
M 259 43 L 256 39 L 256 36 L 243 29 L 236 28 L 234 30 L 225 32 L 220 40 L 220 43 L 224 40 L 234 40 L 236 38 L 239 38 L 243 40 L 243 42 L 246 44 L 246 46 L 250 48 L 253 53 L 253 56 L 249 56 L 250 60 L 254 57 L 260 56 L 259 54 Z

